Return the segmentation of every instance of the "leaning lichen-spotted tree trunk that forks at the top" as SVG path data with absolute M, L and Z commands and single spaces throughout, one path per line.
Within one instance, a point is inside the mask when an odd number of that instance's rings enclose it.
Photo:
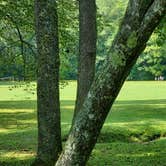
M 129 1 L 110 54 L 95 76 L 56 166 L 86 164 L 114 100 L 165 8 L 165 0 Z

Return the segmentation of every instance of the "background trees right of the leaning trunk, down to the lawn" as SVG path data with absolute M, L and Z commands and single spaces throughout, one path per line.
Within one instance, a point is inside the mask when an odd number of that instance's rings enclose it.
M 155 80 L 160 76 L 166 77 L 165 20 L 164 17 L 153 32 L 144 53 L 139 57 L 128 79 Z

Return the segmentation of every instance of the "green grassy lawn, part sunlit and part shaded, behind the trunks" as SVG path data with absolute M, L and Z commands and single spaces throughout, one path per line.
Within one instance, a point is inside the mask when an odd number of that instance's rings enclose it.
M 14 84 L 14 85 L 12 85 Z M 37 144 L 35 85 L 0 82 L 0 166 L 29 166 Z M 61 89 L 67 138 L 76 82 Z M 88 166 L 166 166 L 166 82 L 126 82 Z

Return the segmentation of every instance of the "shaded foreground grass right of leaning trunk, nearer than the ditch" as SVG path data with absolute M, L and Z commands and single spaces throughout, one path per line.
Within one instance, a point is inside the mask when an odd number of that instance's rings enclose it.
M 166 139 L 148 143 L 97 144 L 87 166 L 165 166 Z

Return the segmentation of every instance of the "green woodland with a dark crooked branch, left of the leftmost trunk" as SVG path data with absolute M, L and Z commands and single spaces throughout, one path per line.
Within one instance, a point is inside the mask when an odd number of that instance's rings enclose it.
M 1 77 L 34 78 L 35 72 L 31 72 L 36 67 L 32 11 L 30 0 L 2 0 L 0 4 Z

